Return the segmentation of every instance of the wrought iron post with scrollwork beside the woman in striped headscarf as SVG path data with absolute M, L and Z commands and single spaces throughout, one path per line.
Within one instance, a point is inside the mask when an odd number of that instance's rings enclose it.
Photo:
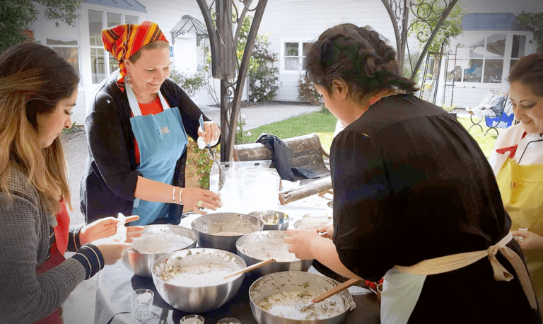
M 215 79 L 221 79 L 221 161 L 232 161 L 247 67 L 268 1 L 259 0 L 254 8 L 250 8 L 253 0 L 240 0 L 243 4 L 241 11 L 233 0 L 214 0 L 209 7 L 205 0 L 197 2 L 209 33 L 211 71 Z M 215 20 L 210 9 L 214 4 Z M 247 36 L 243 58 L 239 62 L 235 49 L 238 47 L 240 29 L 247 11 L 255 11 L 255 16 Z

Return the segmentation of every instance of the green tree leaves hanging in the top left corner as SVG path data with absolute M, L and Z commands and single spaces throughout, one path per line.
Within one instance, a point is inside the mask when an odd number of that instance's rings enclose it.
M 57 27 L 59 21 L 75 26 L 80 17 L 81 0 L 0 1 L 0 52 L 27 39 L 21 30 L 28 29 L 36 21 L 39 11 L 35 3 L 46 7 L 45 18 L 54 21 Z

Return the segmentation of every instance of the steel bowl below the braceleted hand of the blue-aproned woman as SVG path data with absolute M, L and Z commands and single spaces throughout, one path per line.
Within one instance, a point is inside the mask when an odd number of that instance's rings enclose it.
M 255 216 L 238 213 L 216 213 L 200 216 L 192 221 L 200 248 L 217 248 L 235 253 L 235 242 L 245 234 L 262 231 L 264 222 Z M 222 232 L 239 232 L 241 235 L 220 236 Z

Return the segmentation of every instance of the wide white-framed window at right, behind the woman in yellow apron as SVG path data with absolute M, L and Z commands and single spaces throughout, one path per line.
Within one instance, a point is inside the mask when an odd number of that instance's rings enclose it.
M 502 83 L 515 62 L 527 54 L 528 37 L 505 30 L 465 33 L 457 38 L 452 51 L 456 55 L 448 57 L 448 81 Z

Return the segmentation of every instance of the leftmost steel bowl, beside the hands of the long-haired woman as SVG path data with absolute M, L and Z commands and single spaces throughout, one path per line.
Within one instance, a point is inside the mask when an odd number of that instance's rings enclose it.
M 147 225 L 144 226 L 144 231 L 142 233 L 175 233 L 192 239 L 192 244 L 185 248 L 175 250 L 194 248 L 197 241 L 197 236 L 194 231 L 178 225 Z M 136 253 L 133 250 L 127 250 L 127 252 L 122 255 L 121 260 L 124 267 L 131 272 L 134 272 L 134 274 L 137 274 L 140 277 L 151 278 L 151 266 L 153 265 L 153 262 L 163 255 L 172 253 L 175 250 L 164 253 Z

